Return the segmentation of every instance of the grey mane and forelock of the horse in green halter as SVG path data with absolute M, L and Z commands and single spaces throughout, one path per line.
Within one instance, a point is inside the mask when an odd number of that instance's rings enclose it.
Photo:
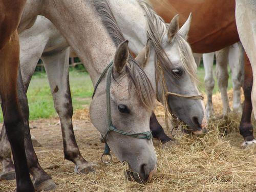
M 108 0 L 95 0 L 93 4 L 115 46 L 118 47 L 125 39 L 117 26 Z M 128 63 L 129 65 L 126 66 L 125 71 L 130 77 L 129 89 L 134 88 L 141 104 L 144 105 L 146 109 L 152 111 L 155 106 L 156 95 L 152 84 L 138 62 L 131 55 Z

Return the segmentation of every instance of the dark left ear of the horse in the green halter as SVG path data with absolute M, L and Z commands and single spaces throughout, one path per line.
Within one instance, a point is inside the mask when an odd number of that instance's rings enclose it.
M 128 40 L 121 42 L 118 46 L 114 57 L 114 70 L 117 73 L 122 73 L 129 57 Z

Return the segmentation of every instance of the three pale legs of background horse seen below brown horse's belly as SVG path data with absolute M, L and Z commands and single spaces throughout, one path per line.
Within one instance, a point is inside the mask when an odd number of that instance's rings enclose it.
M 243 77 L 243 49 L 240 42 L 226 47 L 220 51 L 213 53 L 203 54 L 203 63 L 205 70 L 204 84 L 207 94 L 206 113 L 210 118 L 214 114 L 212 106 L 212 90 L 215 86 L 213 63 L 214 55 L 216 55 L 216 76 L 218 80 L 218 86 L 221 92 L 223 103 L 223 115 L 227 115 L 231 110 L 229 108 L 229 101 L 227 96 L 228 86 L 228 69 L 229 63 L 231 69 L 231 79 L 233 86 L 233 111 L 240 112 L 241 108 L 241 85 Z

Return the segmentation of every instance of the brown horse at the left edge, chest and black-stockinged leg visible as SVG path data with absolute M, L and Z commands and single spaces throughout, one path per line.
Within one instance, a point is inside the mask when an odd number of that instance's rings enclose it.
M 17 191 L 34 191 L 28 172 L 24 148 L 24 123 L 16 90 L 19 65 L 17 27 L 25 3 L 25 0 L 0 1 L 0 96 L 6 133 L 15 162 Z

